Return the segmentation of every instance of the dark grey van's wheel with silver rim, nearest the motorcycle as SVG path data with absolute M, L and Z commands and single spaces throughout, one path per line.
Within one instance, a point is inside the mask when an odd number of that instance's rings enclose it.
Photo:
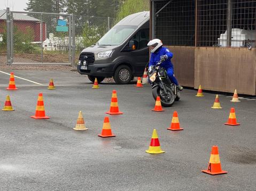
M 117 84 L 128 84 L 133 78 L 131 69 L 127 65 L 120 65 L 114 73 L 114 80 Z

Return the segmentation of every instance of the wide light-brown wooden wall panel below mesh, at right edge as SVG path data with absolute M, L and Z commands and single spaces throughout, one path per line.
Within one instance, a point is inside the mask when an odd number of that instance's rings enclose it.
M 195 48 L 195 88 L 256 94 L 256 48 Z

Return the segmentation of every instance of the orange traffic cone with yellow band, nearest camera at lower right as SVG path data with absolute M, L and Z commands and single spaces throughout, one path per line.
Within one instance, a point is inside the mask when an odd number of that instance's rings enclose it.
M 208 164 L 208 168 L 206 170 L 202 170 L 202 172 L 205 172 L 210 175 L 220 175 L 220 174 L 228 173 L 227 171 L 221 170 L 218 146 L 214 145 L 212 147 L 212 153 L 211 153 L 210 161 Z

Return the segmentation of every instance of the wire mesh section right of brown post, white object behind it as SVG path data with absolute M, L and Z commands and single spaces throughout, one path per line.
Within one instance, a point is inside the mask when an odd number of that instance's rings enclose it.
M 197 46 L 255 47 L 255 0 L 199 0 L 197 10 Z M 231 36 L 229 45 L 228 36 Z

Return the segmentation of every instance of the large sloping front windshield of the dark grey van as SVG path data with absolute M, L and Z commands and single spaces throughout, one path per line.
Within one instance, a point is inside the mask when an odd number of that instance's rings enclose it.
M 137 26 L 115 26 L 110 29 L 99 41 L 98 45 L 113 46 L 123 43 L 123 41 L 130 36 Z

